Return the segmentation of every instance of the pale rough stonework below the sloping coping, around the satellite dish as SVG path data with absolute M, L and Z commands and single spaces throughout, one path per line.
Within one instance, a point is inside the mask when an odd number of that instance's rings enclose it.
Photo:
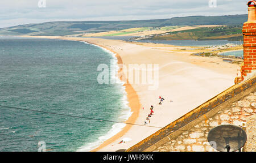
M 250 124 L 246 132 L 250 132 L 250 135 L 255 136 L 255 113 L 256 113 L 256 92 L 250 93 L 249 96 L 245 96 L 242 100 L 233 102 L 230 107 L 222 109 L 214 114 L 212 117 L 204 116 L 204 120 L 197 123 L 189 131 L 184 131 L 182 134 L 177 136 L 175 139 L 169 138 L 170 141 L 160 145 L 156 148 L 155 152 L 162 151 L 216 151 L 213 149 L 208 141 L 208 132 L 218 125 L 232 124 L 242 127 L 246 127 L 246 121 Z M 250 118 L 249 118 L 250 117 Z M 249 118 L 249 120 L 248 120 Z M 251 125 L 251 123 L 254 123 Z M 195 131 L 195 132 L 191 132 Z M 255 141 L 255 137 L 251 140 L 251 137 L 247 139 L 248 141 Z M 251 143 L 247 143 L 251 144 Z M 255 145 L 255 142 L 254 142 Z M 245 150 L 254 150 L 255 146 L 246 145 Z

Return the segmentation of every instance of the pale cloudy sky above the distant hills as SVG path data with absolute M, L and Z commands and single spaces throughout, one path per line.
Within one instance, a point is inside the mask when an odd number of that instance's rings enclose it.
M 53 21 L 247 14 L 248 0 L 0 0 L 0 28 Z

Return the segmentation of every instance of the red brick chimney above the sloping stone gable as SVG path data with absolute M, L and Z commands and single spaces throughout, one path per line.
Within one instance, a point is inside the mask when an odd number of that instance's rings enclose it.
M 256 1 L 249 1 L 248 20 L 243 23 L 243 63 L 241 65 L 241 78 L 235 83 L 256 75 Z

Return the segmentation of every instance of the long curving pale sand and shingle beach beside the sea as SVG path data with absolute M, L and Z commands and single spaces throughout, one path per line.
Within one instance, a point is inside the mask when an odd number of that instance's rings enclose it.
M 26 37 L 26 36 L 24 36 Z M 28 36 L 35 37 L 35 36 Z M 126 122 L 142 125 L 150 105 L 155 106 L 150 126 L 164 127 L 188 111 L 196 108 L 209 98 L 217 95 L 233 85 L 238 65 L 223 62 L 219 58 L 191 56 L 193 52 L 175 52 L 184 46 L 141 43 L 140 45 L 121 40 L 79 37 L 47 37 L 61 40 L 86 41 L 113 52 L 118 63 L 123 64 L 159 64 L 159 88 L 148 91 L 148 85 L 126 84 L 127 100 L 133 114 Z M 157 46 L 157 48 L 156 48 Z M 209 87 L 209 85 L 211 85 Z M 183 93 L 185 92 L 185 93 Z M 157 105 L 158 97 L 163 96 L 166 102 Z M 186 99 L 184 101 L 184 99 Z M 174 102 L 168 102 L 173 100 Z M 145 108 L 142 110 L 141 108 Z M 137 112 L 135 112 L 137 111 Z M 146 111 L 146 112 L 145 112 Z M 147 125 L 145 125 L 147 126 Z M 147 138 L 159 128 L 126 125 L 122 131 L 104 141 L 92 151 L 118 151 L 128 149 L 139 141 Z M 119 144 L 122 136 L 132 141 Z

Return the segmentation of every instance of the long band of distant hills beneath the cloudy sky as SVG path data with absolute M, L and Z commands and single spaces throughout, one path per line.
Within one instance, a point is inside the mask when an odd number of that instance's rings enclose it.
M 187 16 L 171 19 L 130 21 L 82 21 L 47 22 L 0 28 L 0 35 L 65 36 L 82 32 L 105 32 L 135 27 L 166 27 L 175 25 L 239 25 L 247 21 L 247 15 Z

